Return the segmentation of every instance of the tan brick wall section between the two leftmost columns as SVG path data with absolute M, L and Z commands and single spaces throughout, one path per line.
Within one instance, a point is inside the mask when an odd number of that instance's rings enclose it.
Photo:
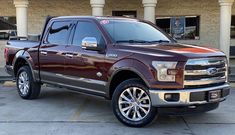
M 40 33 L 47 15 L 90 15 L 89 0 L 29 0 L 29 33 Z

